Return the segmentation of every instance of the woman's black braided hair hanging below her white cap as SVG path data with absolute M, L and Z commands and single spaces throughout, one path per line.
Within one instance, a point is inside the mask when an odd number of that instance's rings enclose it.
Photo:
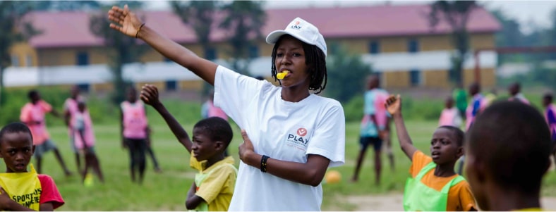
M 274 44 L 274 48 L 272 49 L 272 66 L 271 66 L 271 74 L 274 78 L 274 82 L 278 79 L 276 78 L 277 70 L 276 64 L 276 52 L 278 50 L 278 46 L 284 37 L 293 37 L 291 35 L 282 35 Z M 317 46 L 307 44 L 306 42 L 301 42 L 303 45 L 303 51 L 305 51 L 305 64 L 309 68 L 309 75 L 310 75 L 310 83 L 309 89 L 315 91 L 315 94 L 318 94 L 325 90 L 326 82 L 327 82 L 327 70 L 326 70 L 326 56 L 325 53 L 320 50 Z M 280 82 L 280 81 L 278 81 Z M 324 84 L 323 84 L 324 82 Z M 280 82 L 282 84 L 282 82 Z

